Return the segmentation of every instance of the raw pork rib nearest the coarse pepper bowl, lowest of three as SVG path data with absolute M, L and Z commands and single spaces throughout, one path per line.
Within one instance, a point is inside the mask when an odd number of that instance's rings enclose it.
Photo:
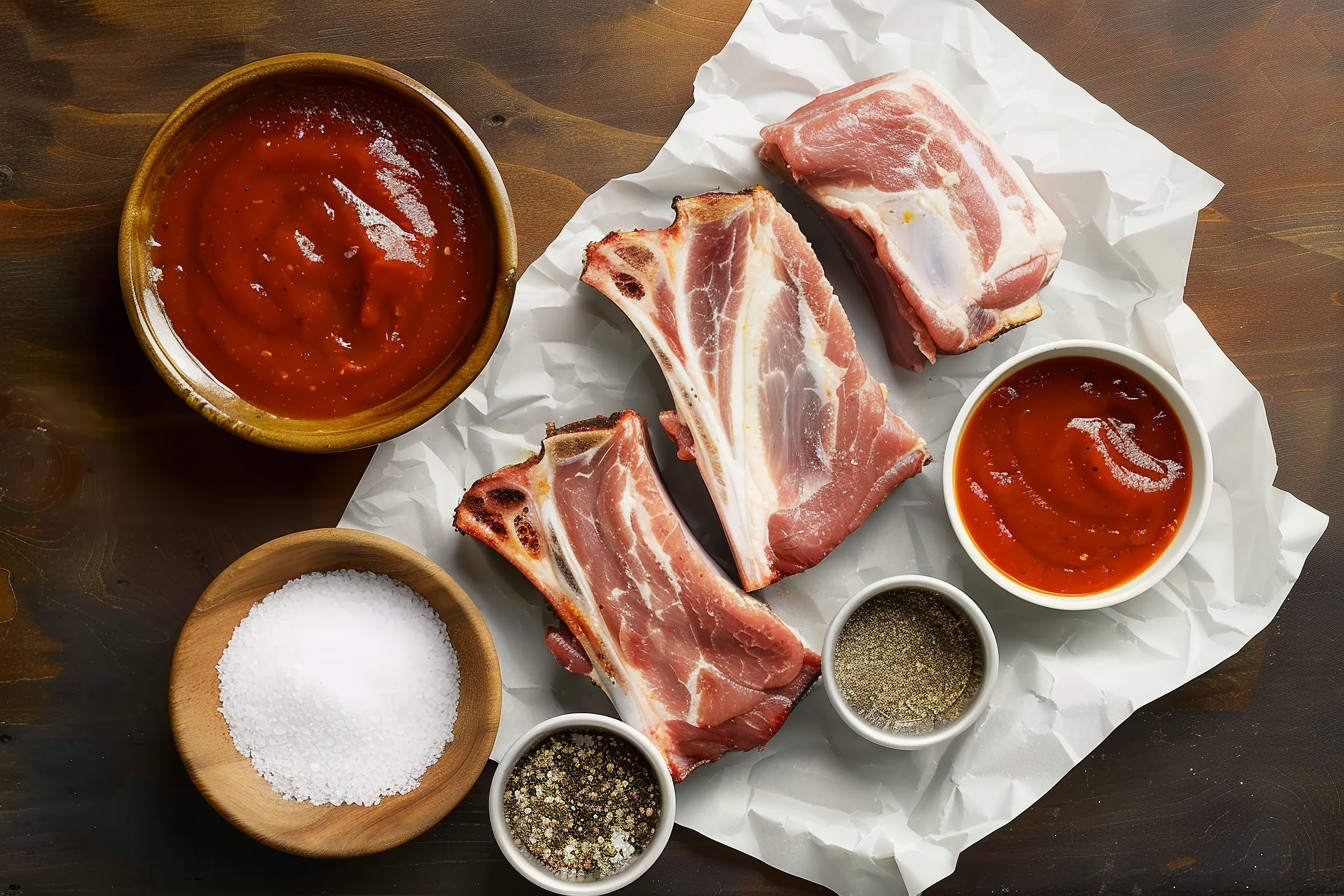
M 650 458 L 634 411 L 550 427 L 539 455 L 468 489 L 453 524 L 542 590 L 566 627 L 547 647 L 591 674 L 680 780 L 763 746 L 821 660 L 723 578 Z

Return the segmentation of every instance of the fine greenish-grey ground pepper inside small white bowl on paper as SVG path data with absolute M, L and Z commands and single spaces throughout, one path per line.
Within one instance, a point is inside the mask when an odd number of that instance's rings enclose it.
M 970 705 L 985 674 L 974 627 L 933 591 L 866 600 L 840 629 L 835 678 L 849 708 L 884 731 L 922 735 Z

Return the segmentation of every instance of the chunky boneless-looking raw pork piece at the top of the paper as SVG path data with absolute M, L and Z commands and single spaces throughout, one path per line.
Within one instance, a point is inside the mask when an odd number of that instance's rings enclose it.
M 1064 226 L 929 75 L 907 69 L 825 94 L 761 138 L 762 161 L 835 215 L 894 363 L 919 371 L 935 352 L 1040 317 Z

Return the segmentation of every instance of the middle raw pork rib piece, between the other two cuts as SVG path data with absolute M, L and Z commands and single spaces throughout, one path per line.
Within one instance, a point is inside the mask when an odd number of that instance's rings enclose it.
M 673 203 L 587 249 L 583 281 L 653 351 L 747 591 L 816 566 L 929 450 L 887 407 L 789 212 L 762 188 Z

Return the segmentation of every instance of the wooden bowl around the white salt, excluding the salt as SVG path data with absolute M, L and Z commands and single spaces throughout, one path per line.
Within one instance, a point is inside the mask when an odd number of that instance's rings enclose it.
M 399 579 L 429 600 L 457 652 L 461 696 L 453 742 L 419 787 L 376 806 L 284 799 L 234 747 L 219 712 L 219 662 L 253 604 L 305 572 L 364 570 Z M 267 541 L 234 562 L 196 602 L 173 653 L 168 713 L 177 752 L 219 814 L 267 846 L 312 857 L 364 856 L 418 837 L 480 778 L 500 720 L 495 642 L 466 592 L 422 553 L 359 529 L 310 529 Z

